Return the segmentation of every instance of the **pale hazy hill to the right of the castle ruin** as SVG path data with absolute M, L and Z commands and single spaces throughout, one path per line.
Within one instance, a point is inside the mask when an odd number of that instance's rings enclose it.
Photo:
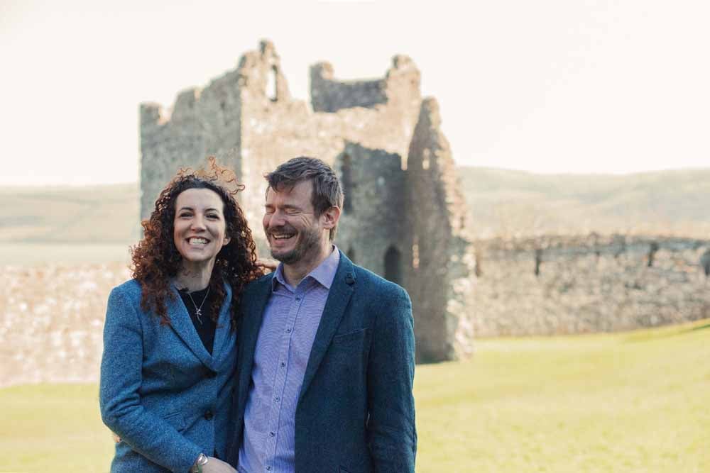
M 460 167 L 474 233 L 662 233 L 710 236 L 710 169 L 532 174 Z

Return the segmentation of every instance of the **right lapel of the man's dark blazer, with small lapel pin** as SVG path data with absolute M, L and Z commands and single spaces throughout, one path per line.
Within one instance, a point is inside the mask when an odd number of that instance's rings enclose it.
M 353 294 L 355 284 L 355 273 L 352 262 L 340 252 L 340 262 L 338 271 L 335 273 L 333 284 L 330 286 L 328 299 L 325 301 L 323 315 L 320 318 L 318 330 L 315 333 L 313 347 L 311 348 L 306 372 L 303 375 L 303 384 L 298 396 L 298 401 L 303 398 L 303 394 L 313 380 L 318 367 L 327 352 L 330 342 L 340 325 L 340 321 L 345 313 L 350 298 Z

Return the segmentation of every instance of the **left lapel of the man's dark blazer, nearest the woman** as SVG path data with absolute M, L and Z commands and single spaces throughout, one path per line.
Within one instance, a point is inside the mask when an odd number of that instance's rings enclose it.
M 271 296 L 271 277 L 264 278 L 258 284 L 251 294 L 243 294 L 241 304 L 244 311 L 241 316 L 243 318 L 241 328 L 239 330 L 239 406 L 244 408 L 246 404 L 246 396 L 249 394 L 249 384 L 251 384 L 251 368 L 254 362 L 254 350 L 256 350 L 256 340 L 258 340 L 259 329 L 263 319 L 266 303 Z

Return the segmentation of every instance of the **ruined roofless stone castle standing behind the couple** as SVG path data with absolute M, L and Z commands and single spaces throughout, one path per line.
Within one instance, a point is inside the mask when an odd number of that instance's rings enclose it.
M 169 115 L 141 104 L 142 218 L 178 168 L 214 155 L 246 184 L 240 204 L 266 255 L 263 174 L 291 157 L 319 157 L 344 186 L 337 245 L 412 298 L 417 361 L 468 354 L 469 216 L 437 101 L 422 98 L 419 70 L 396 56 L 382 79 L 340 81 L 322 62 L 310 68 L 310 94 L 310 106 L 290 96 L 273 44 L 263 41 L 235 70 L 182 91 Z

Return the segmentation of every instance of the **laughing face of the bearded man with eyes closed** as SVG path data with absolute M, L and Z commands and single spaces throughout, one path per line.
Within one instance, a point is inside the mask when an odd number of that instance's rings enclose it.
M 310 181 L 299 182 L 290 189 L 280 187 L 278 191 L 270 187 L 266 193 L 264 233 L 271 256 L 285 265 L 315 255 L 328 239 L 324 219 L 315 216 L 312 193 Z

